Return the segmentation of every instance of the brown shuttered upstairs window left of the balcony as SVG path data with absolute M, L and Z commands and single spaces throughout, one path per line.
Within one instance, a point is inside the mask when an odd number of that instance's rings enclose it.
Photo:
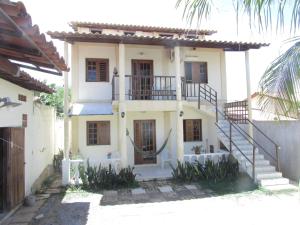
M 87 82 L 109 82 L 108 59 L 86 59 Z

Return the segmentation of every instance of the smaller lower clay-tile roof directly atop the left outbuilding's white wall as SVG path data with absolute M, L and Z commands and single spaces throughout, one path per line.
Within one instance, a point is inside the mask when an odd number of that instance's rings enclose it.
M 24 71 L 21 71 L 20 76 L 18 77 L 9 74 L 0 73 L 0 78 L 31 91 L 45 92 L 49 94 L 54 92 L 52 88 L 50 88 L 43 82 L 34 79 Z

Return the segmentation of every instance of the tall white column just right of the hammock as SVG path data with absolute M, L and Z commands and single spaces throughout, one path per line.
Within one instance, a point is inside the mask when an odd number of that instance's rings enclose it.
M 181 62 L 180 62 L 180 47 L 174 48 L 175 52 L 175 74 L 176 74 L 176 145 L 177 145 L 177 159 L 183 162 L 184 159 L 184 145 L 183 145 L 183 107 L 181 95 Z

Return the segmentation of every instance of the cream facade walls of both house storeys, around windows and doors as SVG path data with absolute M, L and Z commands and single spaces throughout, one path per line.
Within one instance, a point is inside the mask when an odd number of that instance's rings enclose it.
M 167 144 L 168 157 L 173 162 L 178 159 L 177 145 L 178 136 L 183 136 L 183 131 L 178 132 L 180 111 L 183 111 L 181 120 L 201 119 L 202 120 L 202 141 L 184 142 L 184 154 L 191 154 L 191 148 L 202 144 L 206 151 L 213 145 L 214 149 L 219 148 L 215 129 L 214 107 L 203 103 L 198 109 L 197 98 L 193 101 L 185 100 L 129 100 L 127 90 L 129 83 L 125 77 L 124 102 L 119 97 L 113 99 L 112 79 L 114 68 L 118 69 L 119 76 L 132 75 L 132 60 L 152 60 L 154 76 L 176 76 L 176 66 L 180 69 L 180 77 L 184 77 L 184 62 L 207 62 L 208 85 L 218 93 L 218 102 L 226 100 L 226 68 L 225 52 L 223 49 L 179 47 L 180 65 L 176 65 L 174 49 L 156 45 L 132 45 L 124 44 L 124 54 L 120 51 L 120 44 L 111 43 L 89 43 L 74 42 L 71 45 L 71 88 L 72 102 L 74 103 L 103 103 L 109 102 L 113 106 L 112 115 L 79 115 L 71 117 L 71 151 L 100 163 L 107 159 L 108 153 L 123 158 L 122 164 L 135 165 L 134 147 L 126 138 L 126 148 L 123 148 L 120 133 L 123 135 L 128 129 L 133 137 L 134 120 L 155 120 L 156 148 L 158 149 L 166 139 L 170 129 L 171 138 Z M 124 55 L 124 59 L 120 56 Z M 109 60 L 109 82 L 86 82 L 86 59 L 104 58 Z M 121 74 L 120 64 L 125 64 L 125 74 Z M 121 82 L 121 81 L 120 81 Z M 176 88 L 175 79 L 172 86 Z M 180 85 L 179 85 L 180 86 Z M 118 92 L 119 85 L 115 86 Z M 177 87 L 178 90 L 178 87 Z M 182 90 L 181 90 L 182 91 Z M 178 110 L 178 104 L 182 110 Z M 181 106 L 180 106 L 181 107 Z M 121 112 L 125 112 L 126 129 L 120 128 Z M 121 120 L 121 121 L 120 121 Z M 110 145 L 87 145 L 87 122 L 88 121 L 110 121 Z M 180 126 L 179 126 L 180 127 Z M 182 127 L 182 125 L 181 125 Z M 124 149 L 124 150 L 122 150 Z M 157 164 L 160 164 L 162 156 L 157 157 Z

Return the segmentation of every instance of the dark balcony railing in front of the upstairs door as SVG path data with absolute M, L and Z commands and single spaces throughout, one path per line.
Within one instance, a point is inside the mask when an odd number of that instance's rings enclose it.
M 119 99 L 119 76 L 112 79 L 112 98 Z M 175 76 L 125 75 L 126 100 L 176 100 Z

